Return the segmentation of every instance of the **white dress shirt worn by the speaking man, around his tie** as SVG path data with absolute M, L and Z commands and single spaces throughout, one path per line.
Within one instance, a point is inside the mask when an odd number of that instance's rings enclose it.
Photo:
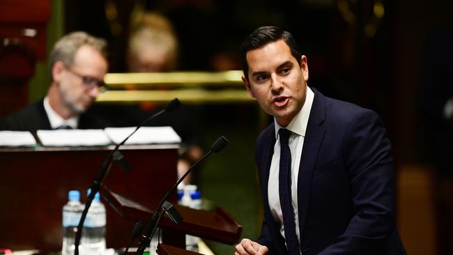
M 302 146 L 304 144 L 305 130 L 307 130 L 308 117 L 312 109 L 314 99 L 313 91 L 307 87 L 307 98 L 302 106 L 302 109 L 288 124 L 286 129 L 292 133 L 289 136 L 289 149 L 291 150 L 291 201 L 294 209 L 294 224 L 295 234 L 298 237 L 300 245 L 299 234 L 299 218 L 298 218 L 298 175 L 300 156 L 302 155 Z M 278 131 L 282 128 L 277 121 L 275 123 L 275 141 L 274 154 L 272 155 L 272 162 L 270 163 L 269 181 L 268 181 L 268 199 L 270 212 L 274 217 L 275 222 L 279 224 L 280 233 L 284 237 L 283 215 L 282 207 L 280 206 L 279 199 L 279 162 L 280 162 L 280 141 Z

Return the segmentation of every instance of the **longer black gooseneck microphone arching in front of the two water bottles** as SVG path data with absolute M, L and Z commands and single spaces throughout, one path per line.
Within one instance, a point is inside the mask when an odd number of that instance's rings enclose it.
M 128 137 L 126 137 L 123 141 L 121 141 L 121 143 L 116 144 L 115 148 L 109 153 L 109 155 L 107 155 L 107 157 L 105 158 L 105 160 L 102 163 L 102 166 L 100 168 L 98 178 L 96 178 L 96 180 L 91 185 L 91 192 L 88 195 L 88 199 L 86 200 L 86 203 L 85 203 L 85 208 L 82 211 L 82 216 L 80 217 L 80 220 L 79 220 L 79 225 L 77 226 L 77 232 L 75 234 L 75 255 L 79 255 L 80 238 L 82 238 L 82 227 L 84 226 L 86 214 L 88 213 L 88 210 L 91 206 L 91 201 L 93 201 L 93 199 L 94 199 L 94 195 L 97 192 L 99 192 L 99 190 L 100 190 L 100 185 L 102 183 L 102 180 L 104 180 L 106 173 L 109 171 L 110 167 L 112 167 L 112 158 L 116 162 L 118 162 L 118 164 L 121 166 L 121 168 L 123 168 L 123 170 L 130 171 L 130 164 L 125 160 L 123 155 L 118 150 L 119 147 L 122 146 L 123 144 L 125 144 L 125 142 L 128 141 L 129 137 L 132 137 L 132 134 L 135 134 L 135 132 L 137 132 L 137 130 L 139 130 L 140 127 L 142 127 L 149 121 L 153 120 L 154 118 L 157 118 L 158 116 L 160 116 L 164 113 L 173 111 L 174 109 L 178 108 L 179 105 L 181 105 L 181 102 L 179 102 L 178 98 L 171 100 L 167 104 L 167 106 L 164 107 L 164 109 L 162 109 L 162 110 L 158 111 L 157 113 L 153 114 L 152 116 L 146 118 L 145 121 L 143 121 L 142 123 L 140 123 L 140 125 L 135 127 L 135 130 L 132 131 L 132 133 L 130 133 L 128 135 Z

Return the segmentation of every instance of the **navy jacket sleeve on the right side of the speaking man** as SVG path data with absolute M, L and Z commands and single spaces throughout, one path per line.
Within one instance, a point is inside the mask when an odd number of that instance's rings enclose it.
M 383 254 L 396 231 L 394 166 L 385 127 L 373 111 L 360 109 L 348 123 L 341 157 L 351 185 L 354 215 L 346 231 L 320 254 Z

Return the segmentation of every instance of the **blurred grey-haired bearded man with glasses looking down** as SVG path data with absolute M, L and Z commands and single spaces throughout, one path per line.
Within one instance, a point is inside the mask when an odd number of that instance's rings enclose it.
M 50 83 L 43 100 L 0 121 L 1 130 L 103 128 L 89 107 L 104 86 L 107 42 L 84 32 L 63 36 L 50 54 Z

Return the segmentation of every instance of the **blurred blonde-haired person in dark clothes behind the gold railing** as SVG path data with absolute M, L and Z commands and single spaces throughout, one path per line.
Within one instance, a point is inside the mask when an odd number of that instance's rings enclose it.
M 173 25 L 163 15 L 153 12 L 139 13 L 132 17 L 126 56 L 129 72 L 170 72 L 177 68 L 178 39 Z M 150 105 L 141 105 L 149 108 Z M 151 108 L 153 105 L 151 105 Z M 192 126 L 193 115 L 186 107 L 178 109 L 178 116 L 162 118 L 158 125 L 171 125 L 182 137 L 183 144 L 178 160 L 178 176 L 199 160 L 203 151 L 198 145 Z M 192 176 L 184 183 L 192 182 Z

